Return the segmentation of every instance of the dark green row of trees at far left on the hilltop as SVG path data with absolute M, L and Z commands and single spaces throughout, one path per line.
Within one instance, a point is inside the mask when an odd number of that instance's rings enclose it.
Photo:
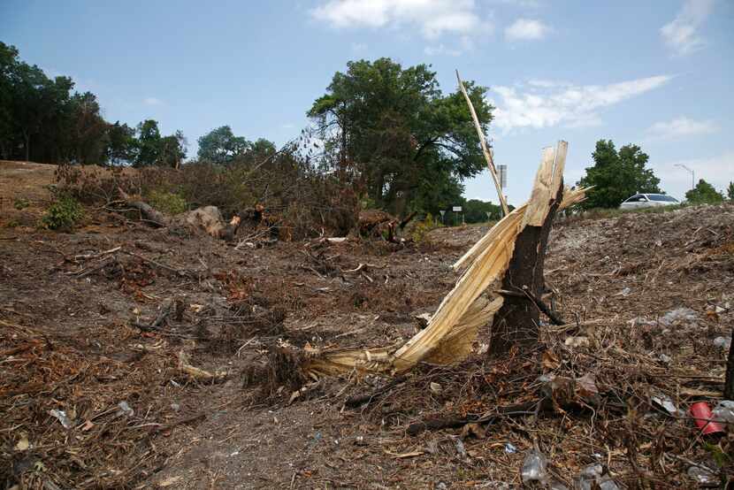
M 95 94 L 71 77 L 50 78 L 0 42 L 0 157 L 41 163 L 179 166 L 180 131 L 162 135 L 156 120 L 137 126 L 106 121 Z

